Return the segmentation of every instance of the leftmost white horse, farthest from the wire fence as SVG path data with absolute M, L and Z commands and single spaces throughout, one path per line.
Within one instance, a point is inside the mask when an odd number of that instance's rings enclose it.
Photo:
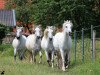
M 25 42 L 26 42 L 26 36 L 22 35 L 23 27 L 17 27 L 16 28 L 16 37 L 14 38 L 12 42 L 12 46 L 14 48 L 14 59 L 16 60 L 16 53 L 19 54 L 19 59 L 23 59 L 24 52 L 26 50 Z

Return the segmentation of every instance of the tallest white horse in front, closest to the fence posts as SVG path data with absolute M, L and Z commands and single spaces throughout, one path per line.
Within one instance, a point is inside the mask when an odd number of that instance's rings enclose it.
M 70 21 L 65 21 L 63 23 L 63 31 L 56 33 L 54 36 L 53 45 L 55 50 L 60 50 L 61 58 L 62 58 L 62 70 L 65 71 L 65 62 L 70 62 L 70 49 L 72 44 L 72 39 L 70 33 L 72 29 L 72 23 Z M 67 55 L 67 59 L 65 59 Z M 68 67 L 68 65 L 67 65 Z

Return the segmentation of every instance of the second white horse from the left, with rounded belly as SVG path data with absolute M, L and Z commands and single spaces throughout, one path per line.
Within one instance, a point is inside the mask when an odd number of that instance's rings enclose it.
M 35 28 L 35 34 L 31 34 L 27 37 L 26 40 L 26 48 L 31 54 L 31 62 L 35 62 L 36 53 L 39 52 L 40 61 L 42 60 L 42 52 L 41 52 L 41 37 L 42 37 L 42 29 L 41 26 L 37 26 Z

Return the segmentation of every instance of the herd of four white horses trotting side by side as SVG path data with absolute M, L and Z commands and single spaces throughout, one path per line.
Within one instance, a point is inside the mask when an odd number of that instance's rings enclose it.
M 49 66 L 54 67 L 54 57 L 56 57 L 57 66 L 59 66 L 59 57 L 62 62 L 61 69 L 65 71 L 70 62 L 70 49 L 71 49 L 71 30 L 72 22 L 67 20 L 62 25 L 62 32 L 57 32 L 56 27 L 47 26 L 42 33 L 40 25 L 35 27 L 35 33 L 30 34 L 28 37 L 24 36 L 22 31 L 23 27 L 17 27 L 16 37 L 12 42 L 14 48 L 14 60 L 16 61 L 16 53 L 18 52 L 19 59 L 24 58 L 26 50 L 30 53 L 30 61 L 36 62 L 36 54 L 39 53 L 42 62 L 42 50 L 45 52 L 47 63 Z M 59 56 L 60 55 L 60 56 Z

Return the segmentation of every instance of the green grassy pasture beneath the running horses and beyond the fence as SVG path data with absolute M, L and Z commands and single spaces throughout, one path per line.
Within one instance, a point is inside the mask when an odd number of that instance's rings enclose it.
M 89 39 L 85 39 L 88 41 Z M 99 75 L 100 74 L 100 41 L 96 41 L 96 59 L 91 61 L 90 42 L 85 43 L 85 60 L 82 63 L 81 41 L 77 42 L 76 62 L 74 61 L 74 47 L 71 49 L 70 67 L 63 72 L 56 66 L 52 69 L 48 67 L 46 57 L 43 52 L 42 63 L 39 64 L 39 56 L 36 56 L 36 63 L 32 64 L 26 59 L 20 61 L 17 56 L 17 61 L 14 62 L 13 48 L 11 44 L 0 45 L 0 73 L 5 71 L 4 75 Z

